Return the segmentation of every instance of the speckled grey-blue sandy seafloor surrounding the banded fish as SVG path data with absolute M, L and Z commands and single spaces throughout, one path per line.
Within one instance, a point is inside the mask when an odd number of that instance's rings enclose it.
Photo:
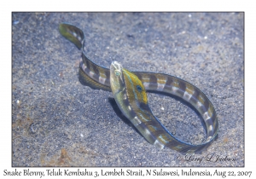
M 244 166 L 243 13 L 13 13 L 12 166 Z M 119 118 L 113 95 L 79 83 L 81 52 L 61 37 L 84 31 L 86 55 L 109 67 L 164 72 L 200 88 L 219 120 L 218 139 L 188 161 L 144 140 Z M 190 107 L 148 93 L 154 115 L 177 138 L 206 137 Z M 206 157 L 212 156 L 211 161 Z M 231 159 L 214 162 L 217 156 Z M 192 158 L 190 158 L 192 159 Z

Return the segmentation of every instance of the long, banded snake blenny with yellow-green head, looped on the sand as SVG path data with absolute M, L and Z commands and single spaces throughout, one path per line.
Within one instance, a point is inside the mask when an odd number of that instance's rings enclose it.
M 110 69 L 98 66 L 84 54 L 84 32 L 78 27 L 62 23 L 61 35 L 82 49 L 79 62 L 79 80 L 92 89 L 113 93 L 120 111 L 151 144 L 169 147 L 180 153 L 201 153 L 218 135 L 218 118 L 212 102 L 195 85 L 164 73 L 129 72 L 119 62 L 113 61 Z M 178 140 L 148 107 L 147 92 L 175 95 L 187 101 L 200 113 L 206 126 L 207 139 L 198 145 Z

